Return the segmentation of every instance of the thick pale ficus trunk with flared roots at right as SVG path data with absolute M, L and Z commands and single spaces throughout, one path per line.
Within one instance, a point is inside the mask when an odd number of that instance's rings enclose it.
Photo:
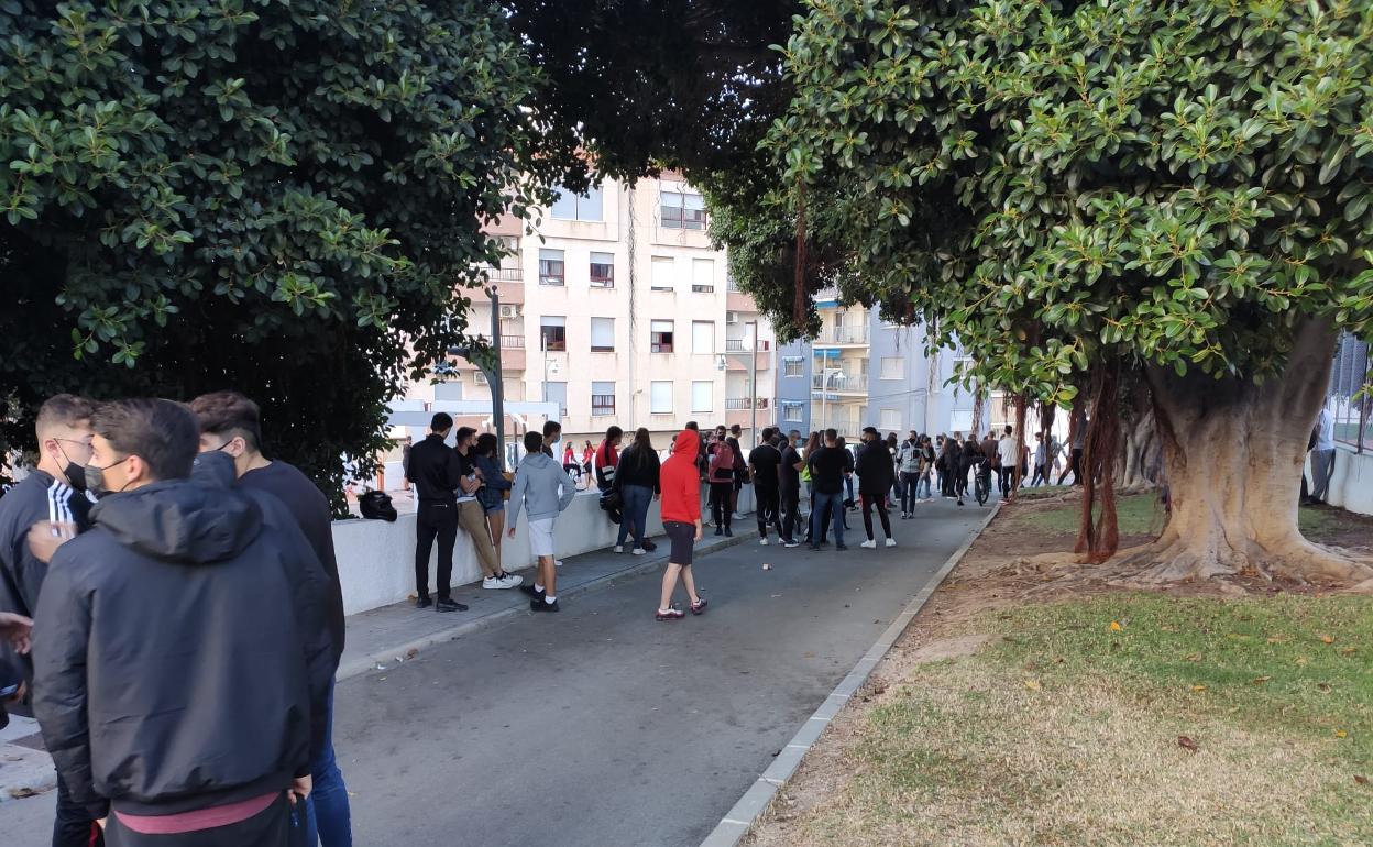
M 1297 530 L 1302 463 L 1330 379 L 1335 334 L 1304 320 L 1285 369 L 1263 384 L 1149 368 L 1170 520 L 1126 561 L 1145 582 L 1225 575 L 1355 583 L 1373 567 Z

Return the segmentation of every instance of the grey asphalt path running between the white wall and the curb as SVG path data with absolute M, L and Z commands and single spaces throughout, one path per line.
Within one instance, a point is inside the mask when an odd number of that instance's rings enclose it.
M 654 620 L 652 570 L 342 682 L 357 843 L 699 844 L 986 511 L 919 515 L 890 550 L 858 548 L 850 515 L 844 553 L 711 553 L 702 618 Z M 0 803 L 5 847 L 44 844 L 49 810 Z

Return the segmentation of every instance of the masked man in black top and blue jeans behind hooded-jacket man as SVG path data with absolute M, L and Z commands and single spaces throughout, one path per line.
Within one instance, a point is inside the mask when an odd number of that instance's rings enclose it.
M 233 476 L 240 489 L 265 491 L 283 504 L 305 533 L 314 557 L 328 575 L 328 623 L 330 641 L 334 645 L 334 662 L 343 655 L 345 618 L 343 590 L 339 583 L 339 566 L 334 555 L 334 515 L 330 501 L 314 487 L 310 478 L 281 459 L 266 459 L 262 454 L 262 419 L 258 405 L 236 391 L 203 394 L 191 401 L 191 412 L 200 424 L 200 453 L 217 453 L 233 463 Z M 310 777 L 314 789 L 305 803 L 305 839 L 320 842 L 324 847 L 350 847 L 353 843 L 353 813 L 349 803 L 347 785 L 334 754 L 334 685 L 330 684 L 328 730 L 320 758 L 310 763 Z

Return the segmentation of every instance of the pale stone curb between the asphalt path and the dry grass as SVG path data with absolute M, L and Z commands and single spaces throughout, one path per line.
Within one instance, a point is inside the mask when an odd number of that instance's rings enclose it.
M 758 822 L 758 818 L 762 817 L 763 811 L 768 810 L 768 806 L 772 804 L 773 798 L 777 796 L 777 791 L 785 785 L 787 780 L 789 780 L 796 773 L 796 769 L 800 767 L 800 761 L 807 752 L 810 752 L 810 748 L 816 744 L 816 741 L 820 740 L 825 728 L 828 728 L 831 721 L 839 715 L 839 711 L 844 707 L 849 699 L 853 697 L 859 688 L 862 688 L 864 682 L 868 681 L 868 677 L 872 675 L 872 670 L 877 667 L 877 663 L 881 662 L 881 659 L 891 649 L 891 645 L 897 642 L 897 638 L 899 638 L 903 631 L 906 631 L 910 620 L 920 612 L 921 608 L 924 608 L 925 603 L 930 601 L 931 594 L 934 594 L 935 590 L 943 585 L 943 581 L 949 577 L 950 571 L 953 571 L 953 568 L 962 561 L 968 549 L 982 535 L 982 531 L 987 529 L 991 519 L 1000 512 L 1001 501 L 998 500 L 997 505 L 991 508 L 991 513 L 989 513 L 982 522 L 982 526 L 979 526 L 978 530 L 968 537 L 968 541 L 965 541 L 962 546 L 954 550 L 953 556 L 949 556 L 949 559 L 943 563 L 943 567 L 935 572 L 930 583 L 920 589 L 920 593 L 916 594 L 910 603 L 906 604 L 906 608 L 901 612 L 901 615 L 891 622 L 891 626 L 883 630 L 877 642 L 873 644 L 866 653 L 864 653 L 864 658 L 854 664 L 854 669 L 849 671 L 849 675 L 844 677 L 838 686 L 835 686 L 835 691 L 831 692 L 828 697 L 825 697 L 825 701 L 820 704 L 820 708 L 810 715 L 810 719 L 807 719 L 791 741 L 781 748 L 781 752 L 778 752 L 777 758 L 774 758 L 772 765 L 768 766 L 768 770 L 765 770 L 762 776 L 754 781 L 748 791 L 744 792 L 744 796 L 739 798 L 739 802 L 735 803 L 733 809 L 725 813 L 725 817 L 721 818 L 719 824 L 715 825 L 715 829 L 706 836 L 706 840 L 700 843 L 700 847 L 735 847 L 739 844 L 740 839 L 748 835 L 748 831 L 752 829 L 754 824 Z

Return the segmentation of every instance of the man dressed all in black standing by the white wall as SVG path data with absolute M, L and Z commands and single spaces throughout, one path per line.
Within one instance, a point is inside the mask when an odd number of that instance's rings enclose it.
M 415 608 L 434 604 L 428 593 L 428 559 L 438 541 L 438 605 L 441 612 L 465 612 L 452 597 L 453 545 L 457 542 L 457 491 L 463 464 L 445 439 L 453 430 L 448 412 L 435 412 L 428 435 L 411 448 L 405 478 L 415 486 Z M 474 489 L 475 490 L 475 489 Z

